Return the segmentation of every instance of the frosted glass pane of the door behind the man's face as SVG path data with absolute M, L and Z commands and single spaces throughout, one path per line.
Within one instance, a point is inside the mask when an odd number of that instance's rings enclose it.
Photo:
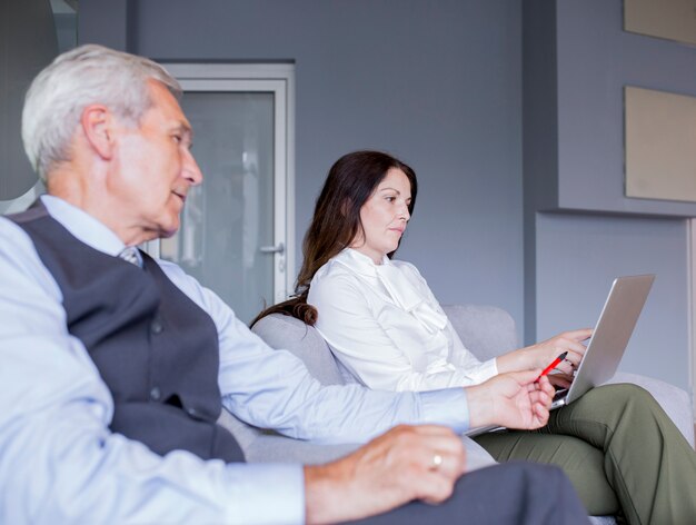
M 275 300 L 284 249 L 274 230 L 274 92 L 187 91 L 203 184 L 187 199 L 181 229 L 160 256 L 213 289 L 248 323 Z

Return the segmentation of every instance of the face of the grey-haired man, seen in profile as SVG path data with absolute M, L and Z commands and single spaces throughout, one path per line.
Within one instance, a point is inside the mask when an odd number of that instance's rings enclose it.
M 108 180 L 119 222 L 136 242 L 172 236 L 189 189 L 202 181 L 179 102 L 159 82 L 150 81 L 149 89 L 153 105 L 139 126 L 118 128 L 116 169 Z

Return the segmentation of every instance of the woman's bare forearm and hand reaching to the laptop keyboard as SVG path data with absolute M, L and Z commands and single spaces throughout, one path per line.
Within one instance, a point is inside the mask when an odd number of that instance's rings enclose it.
M 581 343 L 593 335 L 591 328 L 564 331 L 550 339 L 504 354 L 496 358 L 498 372 L 529 370 L 546 368 L 556 357 L 567 351 L 565 360 L 556 366 L 556 370 L 573 376 L 574 369 L 580 365 L 586 347 Z

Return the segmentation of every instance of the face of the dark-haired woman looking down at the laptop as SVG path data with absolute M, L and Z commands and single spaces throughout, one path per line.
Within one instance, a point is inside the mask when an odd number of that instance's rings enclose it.
M 358 232 L 350 247 L 368 256 L 375 264 L 381 264 L 384 256 L 399 246 L 399 239 L 410 218 L 410 201 L 411 187 L 408 177 L 398 168 L 389 169 L 360 208 L 364 231 Z

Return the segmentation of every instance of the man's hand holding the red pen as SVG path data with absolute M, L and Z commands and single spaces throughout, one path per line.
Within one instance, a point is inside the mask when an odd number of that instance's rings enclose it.
M 546 425 L 554 398 L 554 387 L 541 369 L 511 372 L 491 377 L 480 385 L 467 387 L 471 428 L 503 425 L 534 429 Z

